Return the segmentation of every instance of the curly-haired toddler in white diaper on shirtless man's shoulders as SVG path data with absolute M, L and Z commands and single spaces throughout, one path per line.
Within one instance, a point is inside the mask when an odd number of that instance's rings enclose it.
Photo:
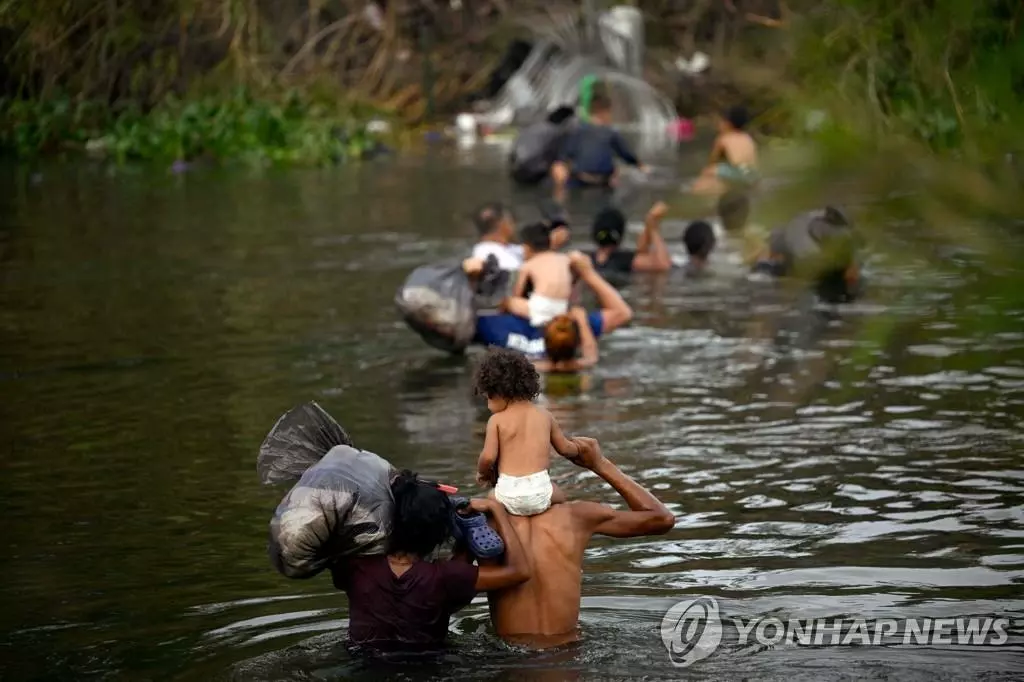
M 477 369 L 476 391 L 492 412 L 477 483 L 494 485 L 492 496 L 514 516 L 534 516 L 565 502 L 548 474 L 551 447 L 569 461 L 580 447 L 547 410 L 534 404 L 541 378 L 532 363 L 515 350 L 489 351 Z

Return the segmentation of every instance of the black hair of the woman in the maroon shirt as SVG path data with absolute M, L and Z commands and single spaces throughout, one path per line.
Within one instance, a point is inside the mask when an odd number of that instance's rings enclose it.
M 389 554 L 424 557 L 452 538 L 452 502 L 446 494 L 404 469 L 391 483 L 391 495 L 394 516 Z

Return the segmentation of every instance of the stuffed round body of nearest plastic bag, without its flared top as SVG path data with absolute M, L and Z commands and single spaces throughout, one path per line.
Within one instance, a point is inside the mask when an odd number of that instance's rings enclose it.
M 391 532 L 394 468 L 337 445 L 306 470 L 270 520 L 270 562 L 286 578 L 316 576 L 343 557 L 383 554 Z

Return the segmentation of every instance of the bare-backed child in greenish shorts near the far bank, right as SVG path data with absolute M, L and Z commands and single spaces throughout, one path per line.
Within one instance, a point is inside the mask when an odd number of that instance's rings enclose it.
M 693 183 L 693 193 L 721 195 L 730 187 L 750 187 L 757 182 L 758 145 L 744 130 L 749 122 L 742 106 L 733 106 L 719 117 L 711 160 Z

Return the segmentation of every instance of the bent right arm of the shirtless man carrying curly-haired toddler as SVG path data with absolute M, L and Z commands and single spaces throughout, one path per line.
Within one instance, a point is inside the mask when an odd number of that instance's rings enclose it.
M 623 496 L 629 511 L 618 511 L 596 502 L 573 505 L 579 520 L 592 532 L 612 538 L 637 538 L 665 535 L 676 524 L 675 515 L 660 500 L 650 494 L 601 454 L 593 438 L 579 437 L 573 441 L 580 456 L 573 463 L 590 469 Z

